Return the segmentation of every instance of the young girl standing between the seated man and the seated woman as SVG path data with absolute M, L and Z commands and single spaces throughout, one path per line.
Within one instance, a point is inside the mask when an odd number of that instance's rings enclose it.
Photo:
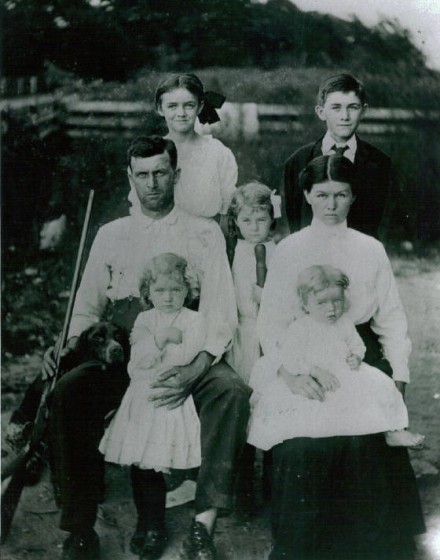
M 264 282 L 257 282 L 257 269 L 267 267 L 275 249 L 270 235 L 275 224 L 273 199 L 266 185 L 252 182 L 235 191 L 229 208 L 243 239 L 237 240 L 232 261 L 238 329 L 227 360 L 246 383 L 261 355 L 256 322 Z

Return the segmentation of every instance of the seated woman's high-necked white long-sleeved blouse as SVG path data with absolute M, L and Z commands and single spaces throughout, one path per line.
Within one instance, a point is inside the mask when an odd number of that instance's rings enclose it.
M 296 294 L 298 274 L 313 265 L 330 265 L 350 280 L 348 317 L 367 323 L 379 336 L 395 381 L 409 381 L 411 342 L 405 312 L 383 245 L 346 223 L 317 220 L 278 244 L 271 260 L 257 321 L 264 354 L 278 354 L 290 323 L 303 315 Z

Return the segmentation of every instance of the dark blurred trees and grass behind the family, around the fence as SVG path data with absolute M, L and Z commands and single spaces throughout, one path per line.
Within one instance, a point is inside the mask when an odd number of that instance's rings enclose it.
M 228 101 L 306 108 L 303 133 L 229 143 L 239 183 L 279 187 L 286 158 L 323 130 L 313 107 L 332 72 L 358 76 L 373 107 L 440 107 L 440 73 L 396 21 L 368 28 L 289 0 L 5 0 L 2 17 L 3 75 L 38 75 L 49 91 L 152 101 L 165 73 L 195 71 Z M 100 224 L 127 214 L 128 184 L 127 140 L 73 139 L 62 129 L 41 138 L 29 123 L 8 119 L 4 127 L 2 115 L 2 352 L 10 359 L 41 351 L 60 329 L 88 189 L 97 193 L 92 239 Z M 161 131 L 150 115 L 142 132 Z M 440 240 L 439 123 L 366 139 L 398 171 L 388 248 L 401 251 L 405 241 L 417 258 L 432 255 Z M 41 226 L 60 214 L 64 242 L 43 253 Z

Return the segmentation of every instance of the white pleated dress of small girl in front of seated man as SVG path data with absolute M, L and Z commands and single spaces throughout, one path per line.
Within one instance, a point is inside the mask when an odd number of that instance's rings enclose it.
M 182 331 L 182 343 L 160 350 L 154 334 L 170 326 Z M 131 382 L 99 446 L 106 461 L 164 472 L 200 465 L 200 422 L 192 396 L 173 410 L 155 407 L 149 397 L 158 391 L 151 384 L 161 373 L 190 363 L 201 351 L 204 328 L 202 316 L 185 307 L 176 314 L 151 309 L 138 315 L 128 364 Z

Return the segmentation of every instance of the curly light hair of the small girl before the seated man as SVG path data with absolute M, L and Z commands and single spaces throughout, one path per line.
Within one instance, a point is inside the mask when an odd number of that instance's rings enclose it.
M 142 274 L 139 294 L 144 309 L 151 309 L 152 307 L 150 286 L 157 281 L 159 276 L 171 276 L 188 288 L 188 294 L 184 301 L 185 306 L 190 305 L 200 295 L 199 278 L 186 259 L 174 253 L 162 253 L 148 261 Z

